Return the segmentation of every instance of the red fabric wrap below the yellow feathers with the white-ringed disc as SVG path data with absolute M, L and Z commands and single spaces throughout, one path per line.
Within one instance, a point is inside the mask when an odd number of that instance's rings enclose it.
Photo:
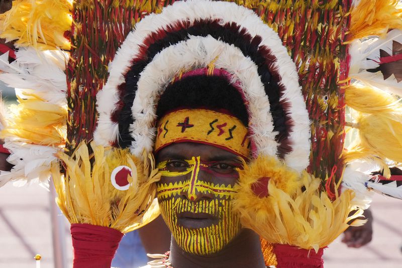
M 123 233 L 118 230 L 90 225 L 71 224 L 74 268 L 110 268 Z

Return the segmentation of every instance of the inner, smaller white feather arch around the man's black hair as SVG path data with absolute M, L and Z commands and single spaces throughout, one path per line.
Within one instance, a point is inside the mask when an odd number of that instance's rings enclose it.
M 172 59 L 176 59 L 174 63 Z M 207 67 L 215 59 L 216 68 L 223 68 L 234 74 L 235 77 L 240 77 L 245 97 L 250 99 L 250 128 L 254 133 L 257 148 L 264 150 L 269 155 L 276 154 L 278 146 L 274 139 L 276 133 L 273 132 L 269 102 L 265 97 L 257 66 L 233 46 L 212 37 L 194 37 L 160 52 L 142 72 L 132 107 L 135 119 L 132 125 L 132 135 L 135 139 L 133 153 L 135 155 L 142 152 L 145 146 L 147 146 L 145 147 L 147 151 L 152 150 L 155 135 L 155 129 L 152 126 L 156 120 L 155 106 L 152 103 L 163 92 L 166 83 L 171 81 L 183 68 L 191 70 Z M 248 79 L 245 79 L 245 70 L 248 71 Z M 155 76 L 156 73 L 163 76 Z M 148 132 L 146 136 L 144 136 L 144 129 L 147 129 Z

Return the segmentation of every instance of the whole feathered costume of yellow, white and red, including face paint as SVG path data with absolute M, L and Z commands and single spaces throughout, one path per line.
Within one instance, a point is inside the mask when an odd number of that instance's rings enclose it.
M 172 202 L 191 207 L 196 191 L 220 198 L 203 211 L 237 217 L 173 232 L 183 250 L 217 252 L 243 226 L 267 265 L 322 267 L 323 249 L 364 222 L 369 190 L 402 197 L 389 168 L 402 162 L 399 2 L 173 2 L 13 3 L 0 37 L 18 49 L 3 47 L 0 80 L 19 99 L 2 130 L 15 166 L 0 184 L 52 176 L 75 268 L 110 266 L 159 208 L 174 229 Z M 153 154 L 180 142 L 238 155 L 238 183 L 196 179 L 209 167 L 196 157 L 194 180 L 158 183 L 177 174 Z M 182 242 L 203 234 L 218 241 Z

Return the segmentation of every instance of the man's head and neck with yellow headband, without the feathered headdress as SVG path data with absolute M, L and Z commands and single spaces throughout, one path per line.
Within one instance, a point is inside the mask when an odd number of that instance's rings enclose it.
M 172 265 L 265 267 L 258 235 L 242 228 L 232 208 L 237 169 L 242 168 L 239 157 L 247 159 L 249 150 L 231 140 L 227 147 L 214 144 L 218 136 L 213 131 L 210 137 L 208 131 L 203 136 L 214 120 L 236 125 L 239 133 L 241 128 L 247 132 L 247 111 L 240 94 L 222 77 L 182 78 L 166 88 L 157 115 L 158 129 L 162 129 L 154 150 L 161 173 L 157 197 L 172 232 Z M 186 124 L 174 123 L 181 117 L 188 118 Z M 177 130 L 184 135 L 181 139 Z

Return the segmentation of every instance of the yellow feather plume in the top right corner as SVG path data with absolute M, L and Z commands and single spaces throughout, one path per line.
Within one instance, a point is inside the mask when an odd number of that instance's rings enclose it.
M 362 0 L 351 9 L 348 41 L 372 35 L 385 36 L 388 29 L 402 30 L 398 0 Z

